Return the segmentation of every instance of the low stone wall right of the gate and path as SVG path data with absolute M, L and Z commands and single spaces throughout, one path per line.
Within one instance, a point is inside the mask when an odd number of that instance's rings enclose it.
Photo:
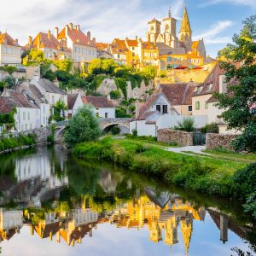
M 215 148 L 226 148 L 232 150 L 231 142 L 236 139 L 239 135 L 236 134 L 216 134 L 216 133 L 207 133 L 207 149 Z

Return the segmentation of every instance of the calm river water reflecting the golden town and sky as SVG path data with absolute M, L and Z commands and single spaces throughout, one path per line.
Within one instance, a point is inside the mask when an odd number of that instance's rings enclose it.
M 256 252 L 236 202 L 79 160 L 60 146 L 1 155 L 0 205 L 0 255 Z

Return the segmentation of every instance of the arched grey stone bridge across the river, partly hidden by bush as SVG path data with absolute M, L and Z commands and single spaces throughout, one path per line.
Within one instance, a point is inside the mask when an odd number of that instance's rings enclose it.
M 99 119 L 102 131 L 110 131 L 113 126 L 120 128 L 120 134 L 126 134 L 130 132 L 131 119 Z M 55 127 L 55 140 L 58 142 L 63 138 L 64 131 L 67 127 L 68 120 L 56 123 Z

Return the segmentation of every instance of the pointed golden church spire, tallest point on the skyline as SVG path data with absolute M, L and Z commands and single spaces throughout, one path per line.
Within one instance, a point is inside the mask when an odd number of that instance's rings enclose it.
M 189 23 L 189 15 L 186 5 L 184 8 L 183 20 L 179 31 L 179 40 L 183 42 L 183 44 L 185 44 L 186 49 L 189 49 L 192 42 L 192 31 Z

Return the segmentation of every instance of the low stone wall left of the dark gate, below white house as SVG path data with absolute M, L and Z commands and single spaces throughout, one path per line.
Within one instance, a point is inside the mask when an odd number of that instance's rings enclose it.
M 160 143 L 177 143 L 180 146 L 193 146 L 193 132 L 160 129 L 157 132 Z

